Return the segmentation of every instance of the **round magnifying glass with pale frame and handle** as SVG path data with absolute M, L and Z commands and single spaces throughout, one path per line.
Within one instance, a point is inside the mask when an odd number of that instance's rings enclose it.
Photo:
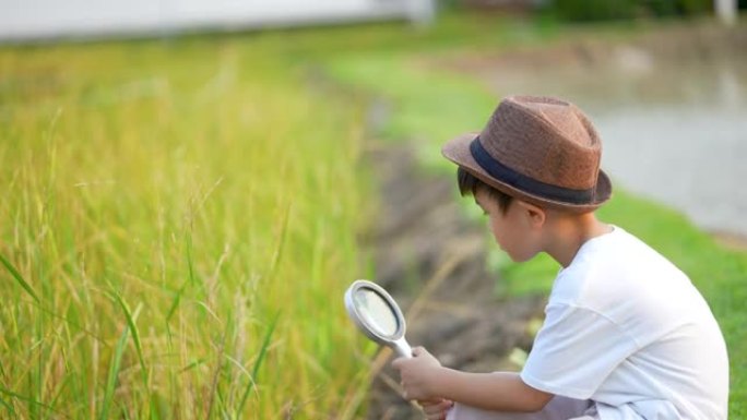
M 402 311 L 381 286 L 368 280 L 355 280 L 345 291 L 345 309 L 368 338 L 391 347 L 402 357 L 413 357 L 413 349 L 404 338 Z

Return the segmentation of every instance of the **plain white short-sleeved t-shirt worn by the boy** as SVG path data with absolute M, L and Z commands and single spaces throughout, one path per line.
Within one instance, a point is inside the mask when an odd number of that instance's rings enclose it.
M 561 269 L 521 372 L 527 385 L 592 399 L 602 420 L 725 420 L 721 329 L 689 278 L 615 227 Z

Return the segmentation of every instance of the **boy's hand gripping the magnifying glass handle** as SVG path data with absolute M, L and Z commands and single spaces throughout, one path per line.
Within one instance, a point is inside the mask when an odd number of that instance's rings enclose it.
M 434 387 L 441 363 L 423 347 L 415 347 L 413 356 L 412 359 L 399 358 L 392 362 L 392 367 L 400 371 L 403 397 L 417 400 L 440 399 Z

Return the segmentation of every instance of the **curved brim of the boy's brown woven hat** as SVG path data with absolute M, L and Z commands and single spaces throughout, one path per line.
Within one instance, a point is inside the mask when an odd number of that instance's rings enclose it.
M 491 177 L 477 164 L 475 158 L 472 156 L 472 153 L 470 152 L 470 144 L 477 135 L 479 135 L 479 133 L 465 133 L 452 139 L 443 145 L 441 153 L 447 159 L 464 168 L 464 170 L 474 175 L 481 181 L 495 189 L 498 189 L 499 191 L 538 206 L 567 209 L 574 213 L 592 212 L 608 201 L 612 196 L 612 182 L 609 181 L 609 177 L 607 177 L 607 175 L 601 169 L 596 179 L 596 188 L 593 195 L 594 200 L 591 203 L 578 204 L 550 200 L 509 185 L 501 180 Z

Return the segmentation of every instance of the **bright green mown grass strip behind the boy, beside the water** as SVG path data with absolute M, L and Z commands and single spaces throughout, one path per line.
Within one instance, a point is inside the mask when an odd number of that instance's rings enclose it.
M 583 31 L 554 33 L 553 40 L 582 36 Z M 628 27 L 607 28 L 612 38 L 629 34 Z M 589 35 L 589 33 L 588 33 Z M 487 43 L 479 44 L 479 43 Z M 490 48 L 482 39 L 478 50 Z M 527 46 L 543 44 L 542 36 L 529 37 Z M 494 49 L 502 44 L 495 43 Z M 329 72 L 352 88 L 370 96 L 383 96 L 392 105 L 390 121 L 379 133 L 390 141 L 412 141 L 428 170 L 454 173 L 440 156 L 440 145 L 464 131 L 481 130 L 499 98 L 474 80 L 427 68 L 424 58 L 439 59 L 474 48 L 419 48 L 393 52 L 349 53 L 328 62 Z M 453 57 L 453 56 L 452 56 Z M 455 187 L 454 187 L 455 190 Z M 461 200 L 454 191 L 454 200 Z M 461 200 L 469 217 L 478 219 L 471 200 Z M 720 247 L 683 215 L 619 189 L 598 215 L 619 225 L 657 249 L 683 268 L 712 307 L 726 337 L 731 356 L 730 418 L 747 419 L 747 252 Z M 526 264 L 513 264 L 497 248 L 487 264 L 500 273 L 499 293 L 546 293 L 558 265 L 547 255 Z

